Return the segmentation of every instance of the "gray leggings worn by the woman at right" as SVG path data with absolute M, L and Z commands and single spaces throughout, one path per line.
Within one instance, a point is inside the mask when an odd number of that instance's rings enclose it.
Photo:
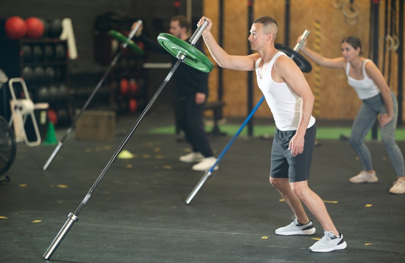
M 388 156 L 394 166 L 398 177 L 405 176 L 405 166 L 401 150 L 395 142 L 395 128 L 398 117 L 398 102 L 391 91 L 394 117 L 381 128 L 381 140 L 388 152 Z M 373 126 L 378 114 L 386 113 L 387 109 L 381 94 L 370 99 L 363 100 L 361 108 L 353 122 L 350 135 L 350 145 L 356 151 L 364 170 L 373 170 L 370 151 L 365 144 L 365 138 Z

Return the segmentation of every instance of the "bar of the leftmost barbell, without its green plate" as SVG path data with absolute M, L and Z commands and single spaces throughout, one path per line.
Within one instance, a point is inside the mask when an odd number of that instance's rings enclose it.
M 139 27 L 142 24 L 142 20 L 138 20 L 137 21 L 138 24 L 137 26 L 131 31 L 130 35 L 128 36 L 128 40 L 130 40 L 136 33 L 136 31 L 138 31 Z M 124 43 L 123 48 L 126 48 L 128 45 L 128 43 Z M 51 164 L 51 162 L 53 161 L 53 159 L 55 158 L 56 154 L 59 152 L 59 150 L 62 148 L 63 143 L 65 142 L 66 138 L 68 137 L 68 135 L 71 133 L 71 131 L 74 129 L 77 120 L 80 118 L 80 116 L 82 116 L 83 112 L 86 110 L 86 108 L 89 106 L 90 102 L 93 100 L 93 97 L 96 95 L 96 93 L 98 92 L 98 90 L 101 87 L 101 84 L 103 84 L 105 78 L 107 77 L 107 75 L 110 73 L 111 69 L 115 66 L 116 62 L 118 61 L 118 58 L 121 56 L 121 54 L 123 53 L 123 49 L 121 49 L 113 58 L 110 66 L 107 68 L 107 70 L 104 72 L 104 75 L 102 76 L 102 78 L 100 79 L 100 81 L 98 82 L 97 86 L 95 87 L 95 89 L 93 90 L 92 94 L 90 95 L 90 97 L 87 99 L 85 105 L 83 106 L 82 109 L 80 109 L 80 112 L 74 117 L 72 124 L 70 125 L 70 127 L 66 130 L 65 135 L 62 137 L 62 140 L 60 140 L 58 142 L 58 145 L 56 146 L 55 150 L 52 152 L 51 156 L 48 158 L 47 162 L 45 163 L 44 167 L 42 168 L 44 171 L 47 170 L 48 166 Z

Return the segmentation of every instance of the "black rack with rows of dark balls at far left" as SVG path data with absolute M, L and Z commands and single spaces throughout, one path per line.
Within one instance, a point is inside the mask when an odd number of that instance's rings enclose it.
M 56 47 L 58 46 L 65 52 L 67 51 L 66 40 L 58 38 L 1 40 L 0 57 L 2 59 L 0 60 L 0 68 L 10 78 L 24 78 L 34 103 L 48 102 L 51 109 L 60 114 L 63 113 L 63 119 L 65 119 L 65 122 L 69 122 L 72 110 L 68 100 L 70 86 L 68 58 L 67 53 L 56 57 Z M 30 54 L 27 54 L 27 48 Z M 34 54 L 34 48 L 41 52 Z M 45 56 L 46 48 L 52 50 L 53 56 Z M 53 71 L 53 76 L 46 74 L 47 68 L 49 69 L 48 72 L 52 73 Z M 36 69 L 36 73 L 40 74 L 35 73 Z M 64 90 L 63 94 L 60 92 L 62 90 Z M 0 94 L 0 96 L 4 95 Z M 8 93 L 6 96 L 6 101 L 9 101 L 10 94 Z M 4 98 L 1 99 L 4 100 Z M 11 115 L 10 107 L 7 107 L 7 110 L 0 109 L 0 111 L 0 114 L 6 119 Z M 63 124 L 63 121 L 59 123 Z

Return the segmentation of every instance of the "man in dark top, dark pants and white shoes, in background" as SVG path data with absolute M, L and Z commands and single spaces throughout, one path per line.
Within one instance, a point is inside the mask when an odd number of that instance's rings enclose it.
M 136 25 L 137 23 L 134 23 L 132 28 L 135 28 Z M 157 53 L 169 54 L 157 41 L 142 34 L 142 29 L 141 24 L 135 36 L 147 49 Z M 170 21 L 169 33 L 183 41 L 189 40 L 189 29 L 190 22 L 184 16 L 175 16 Z M 201 45 L 196 44 L 195 48 L 204 53 Z M 174 56 L 171 57 L 173 64 L 175 64 L 178 59 Z M 217 161 L 208 141 L 203 122 L 204 107 L 208 98 L 208 73 L 181 63 L 175 71 L 174 77 L 176 80 L 177 123 L 180 129 L 184 131 L 186 140 L 192 147 L 191 153 L 180 156 L 180 161 L 197 162 L 192 166 L 195 171 L 208 170 Z M 215 169 L 218 169 L 218 165 Z

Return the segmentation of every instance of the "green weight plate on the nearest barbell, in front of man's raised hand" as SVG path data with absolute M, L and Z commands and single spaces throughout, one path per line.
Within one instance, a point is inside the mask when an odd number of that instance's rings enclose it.
M 195 47 L 191 46 L 186 41 L 183 41 L 174 35 L 160 33 L 157 37 L 157 41 L 175 57 L 177 57 L 179 53 L 182 53 L 186 57 L 183 62 L 192 68 L 203 72 L 211 72 L 211 70 L 214 68 L 214 65 L 206 57 L 206 55 L 197 50 Z

